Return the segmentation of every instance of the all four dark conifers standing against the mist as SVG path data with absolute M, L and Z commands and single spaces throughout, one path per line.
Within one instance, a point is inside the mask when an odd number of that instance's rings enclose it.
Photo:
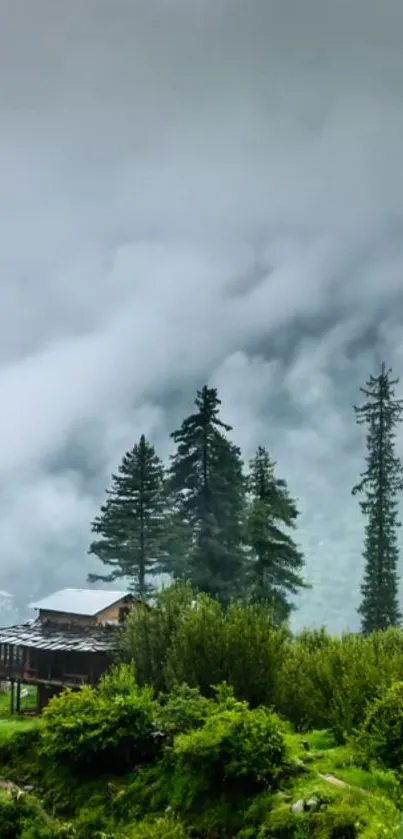
M 359 610 L 364 632 L 400 621 L 398 382 L 382 363 L 360 388 L 362 404 L 354 406 L 367 445 L 365 468 L 352 488 L 366 520 Z M 168 466 L 145 435 L 124 454 L 92 524 L 89 553 L 105 573 L 90 574 L 89 581 L 124 580 L 133 594 L 147 598 L 162 573 L 223 604 L 232 598 L 264 602 L 281 623 L 309 586 L 298 545 L 298 503 L 264 441 L 245 469 L 220 407 L 215 388 L 197 392 L 194 412 L 171 434 Z

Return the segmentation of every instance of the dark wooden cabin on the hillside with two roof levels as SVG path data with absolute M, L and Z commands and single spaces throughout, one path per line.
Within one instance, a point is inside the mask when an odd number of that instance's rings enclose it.
M 32 604 L 36 620 L 1 628 L 0 681 L 11 685 L 11 711 L 20 711 L 21 685 L 37 686 L 38 712 L 63 687 L 96 685 L 133 602 L 123 591 L 63 589 Z

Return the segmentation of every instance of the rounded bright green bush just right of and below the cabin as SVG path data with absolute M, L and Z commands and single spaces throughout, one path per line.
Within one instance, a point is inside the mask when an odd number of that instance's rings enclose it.
M 54 697 L 43 713 L 41 751 L 71 767 L 122 771 L 152 758 L 157 739 L 150 688 L 139 688 L 129 667 L 102 681 Z

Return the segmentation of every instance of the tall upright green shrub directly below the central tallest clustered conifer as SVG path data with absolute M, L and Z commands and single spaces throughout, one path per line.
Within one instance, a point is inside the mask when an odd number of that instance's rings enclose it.
M 186 682 L 212 696 L 212 685 L 225 681 L 251 706 L 272 705 L 286 639 L 264 605 L 233 602 L 225 610 L 199 596 L 172 636 L 166 682 L 170 688 Z

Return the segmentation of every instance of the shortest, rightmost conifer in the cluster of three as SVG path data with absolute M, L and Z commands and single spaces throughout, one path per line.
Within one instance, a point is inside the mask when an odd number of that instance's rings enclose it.
M 277 622 L 293 608 L 289 596 L 306 588 L 304 557 L 291 535 L 299 512 L 287 483 L 275 475 L 275 463 L 263 446 L 250 461 L 246 538 L 251 549 L 249 584 L 252 599 L 271 604 Z

